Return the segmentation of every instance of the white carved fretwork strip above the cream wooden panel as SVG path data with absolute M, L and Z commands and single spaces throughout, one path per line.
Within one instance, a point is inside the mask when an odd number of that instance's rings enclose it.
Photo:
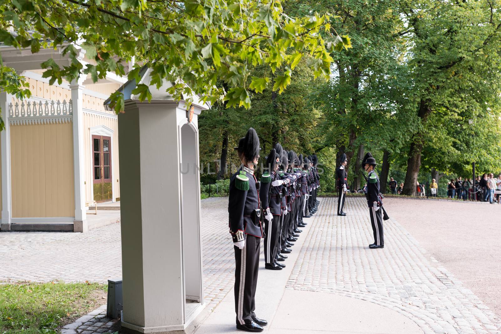
M 73 120 L 72 100 L 30 101 L 16 100 L 9 103 L 11 124 L 66 123 Z

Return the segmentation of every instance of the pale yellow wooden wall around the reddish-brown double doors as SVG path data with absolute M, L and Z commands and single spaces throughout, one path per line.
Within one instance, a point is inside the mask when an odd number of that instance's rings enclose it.
M 112 140 L 112 161 L 111 178 L 115 187 L 115 198 L 120 197 L 120 172 L 118 167 L 118 120 L 107 116 L 101 116 L 94 113 L 84 112 L 84 154 L 85 154 L 85 201 L 90 201 L 93 195 L 93 177 L 92 177 L 92 135 L 90 128 L 104 125 L 113 130 Z M 114 198 L 114 199 L 115 199 Z

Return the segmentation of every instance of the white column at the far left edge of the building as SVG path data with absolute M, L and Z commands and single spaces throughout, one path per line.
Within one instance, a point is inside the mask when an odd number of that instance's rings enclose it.
M 0 92 L 0 105 L 2 106 L 2 118 L 5 129 L 0 134 L 2 142 L 2 225 L 0 229 L 11 229 L 12 217 L 12 191 L 11 191 L 11 133 L 9 124 L 9 103 L 12 95 Z

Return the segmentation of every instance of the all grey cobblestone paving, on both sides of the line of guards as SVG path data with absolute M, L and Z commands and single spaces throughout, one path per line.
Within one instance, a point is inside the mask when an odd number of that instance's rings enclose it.
M 368 249 L 373 240 L 365 199 L 348 197 L 346 217 L 336 215 L 336 200 L 321 199 L 286 288 L 369 300 L 408 316 L 426 333 L 501 333 L 500 320 L 488 307 L 430 258 L 397 221 L 384 222 L 384 249 Z M 209 308 L 233 283 L 226 205 L 227 198 L 202 201 Z M 87 233 L 0 233 L 0 281 L 106 282 L 121 275 L 120 246 L 119 223 Z

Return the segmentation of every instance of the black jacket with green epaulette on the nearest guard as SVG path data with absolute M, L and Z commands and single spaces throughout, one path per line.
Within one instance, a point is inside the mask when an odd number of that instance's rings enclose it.
M 240 190 L 235 186 L 235 179 L 240 170 L 245 172 L 248 178 L 248 190 Z M 231 176 L 229 181 L 229 228 L 233 242 L 238 241 L 235 233 L 240 230 L 246 234 L 263 237 L 263 227 L 261 221 L 255 219 L 255 210 L 260 208 L 258 180 L 252 169 L 242 166 Z

